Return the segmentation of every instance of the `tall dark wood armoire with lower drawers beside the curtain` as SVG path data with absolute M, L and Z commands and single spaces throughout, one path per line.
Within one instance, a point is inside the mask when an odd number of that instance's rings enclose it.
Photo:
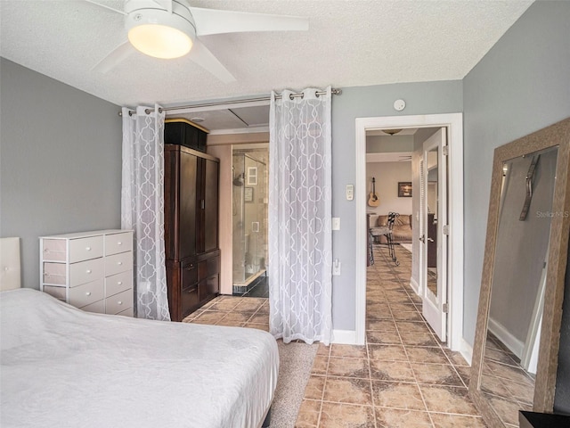
M 164 154 L 168 306 L 182 321 L 220 289 L 219 160 L 180 144 Z

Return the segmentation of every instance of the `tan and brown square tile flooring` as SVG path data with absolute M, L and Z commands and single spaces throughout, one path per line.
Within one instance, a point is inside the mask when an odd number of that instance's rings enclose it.
M 366 345 L 319 345 L 296 428 L 485 428 L 468 399 L 469 367 L 440 345 L 400 266 L 376 246 L 367 272 Z M 267 299 L 220 296 L 185 322 L 268 329 Z

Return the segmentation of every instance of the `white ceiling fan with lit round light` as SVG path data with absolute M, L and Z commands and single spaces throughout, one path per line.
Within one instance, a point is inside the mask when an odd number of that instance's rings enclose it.
M 306 31 L 305 17 L 265 13 L 232 12 L 193 7 L 188 0 L 127 0 L 123 11 L 85 0 L 125 15 L 127 40 L 121 42 L 93 70 L 106 73 L 138 50 L 146 55 L 173 59 L 188 54 L 224 83 L 236 80 L 199 37 L 248 31 Z

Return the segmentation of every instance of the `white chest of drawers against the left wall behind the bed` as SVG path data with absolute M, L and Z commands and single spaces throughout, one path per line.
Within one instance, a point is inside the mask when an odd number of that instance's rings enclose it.
M 40 290 L 89 312 L 133 317 L 133 231 L 39 238 Z

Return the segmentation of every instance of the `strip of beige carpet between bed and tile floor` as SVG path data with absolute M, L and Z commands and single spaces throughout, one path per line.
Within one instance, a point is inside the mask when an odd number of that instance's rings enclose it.
M 284 344 L 280 340 L 277 346 L 280 358 L 279 378 L 273 398 L 270 428 L 293 428 L 319 345 L 297 342 Z

